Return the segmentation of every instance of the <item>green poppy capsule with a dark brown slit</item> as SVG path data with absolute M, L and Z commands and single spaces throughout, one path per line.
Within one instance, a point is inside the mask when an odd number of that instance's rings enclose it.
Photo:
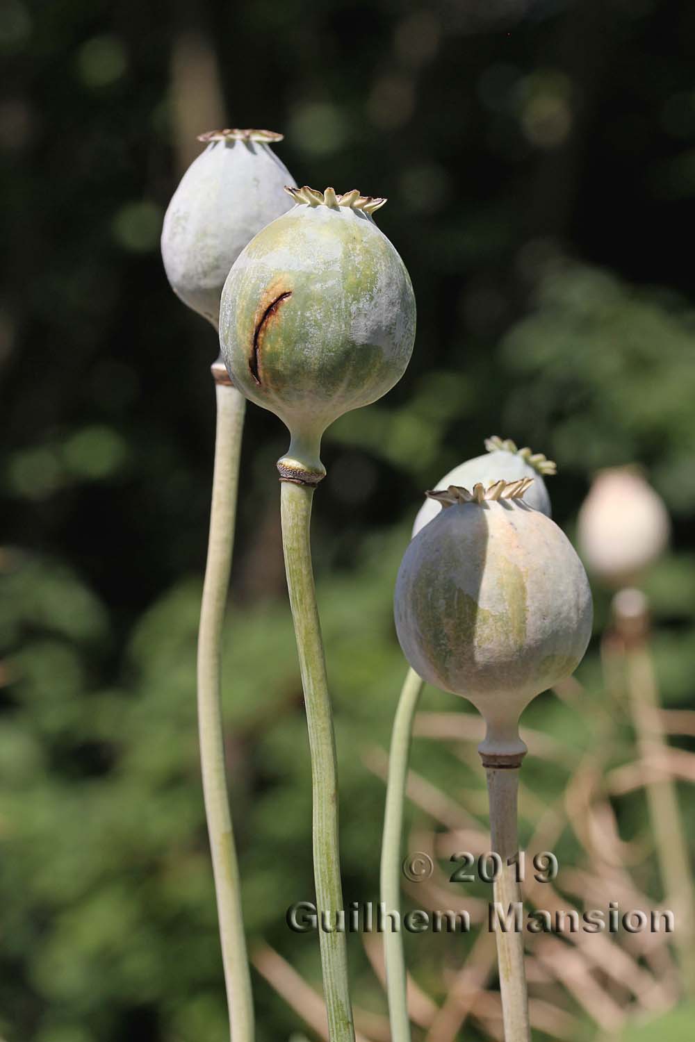
M 247 398 L 290 430 L 280 477 L 317 483 L 321 436 L 386 394 L 415 340 L 415 296 L 372 214 L 384 199 L 288 189 L 296 205 L 253 239 L 229 272 L 220 344 Z

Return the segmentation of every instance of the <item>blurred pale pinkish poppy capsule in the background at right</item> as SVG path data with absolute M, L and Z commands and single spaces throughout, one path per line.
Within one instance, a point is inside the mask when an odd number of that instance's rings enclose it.
M 669 516 L 637 468 L 599 471 L 578 518 L 579 550 L 590 572 L 611 586 L 639 578 L 666 549 Z

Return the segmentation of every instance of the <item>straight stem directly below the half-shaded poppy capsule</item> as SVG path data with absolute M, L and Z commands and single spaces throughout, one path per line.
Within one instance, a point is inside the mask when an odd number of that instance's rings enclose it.
M 517 795 L 519 768 L 486 767 L 490 798 L 490 830 L 492 848 L 502 861 L 502 868 L 494 883 L 494 899 L 501 905 L 501 915 L 507 918 L 521 905 L 521 888 L 517 883 L 516 868 L 507 865 L 519 852 L 517 832 Z M 518 903 L 517 903 L 518 902 Z M 514 921 L 514 916 L 512 916 Z M 513 926 L 506 931 L 497 923 L 497 963 L 499 990 L 502 996 L 502 1019 L 505 1042 L 530 1042 L 528 1025 L 528 997 L 524 969 L 523 933 Z

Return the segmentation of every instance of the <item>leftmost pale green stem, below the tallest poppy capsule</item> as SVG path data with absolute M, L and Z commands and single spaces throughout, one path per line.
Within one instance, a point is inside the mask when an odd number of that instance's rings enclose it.
M 213 855 L 222 962 L 232 1042 L 253 1042 L 251 977 L 240 893 L 239 865 L 224 764 L 220 693 L 222 624 L 229 587 L 237 516 L 239 458 L 246 399 L 213 367 L 217 433 L 205 581 L 198 631 L 198 728 L 205 816 Z

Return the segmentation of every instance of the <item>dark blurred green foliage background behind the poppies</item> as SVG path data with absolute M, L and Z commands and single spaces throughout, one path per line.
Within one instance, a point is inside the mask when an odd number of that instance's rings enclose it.
M 3 0 L 0 48 L 0 1036 L 215 1042 L 193 660 L 217 347 L 158 254 L 195 134 L 280 130 L 298 183 L 388 196 L 378 223 L 417 295 L 413 363 L 328 432 L 316 503 L 346 892 L 376 899 L 382 788 L 354 752 L 388 742 L 393 578 L 422 490 L 486 436 L 557 460 L 570 532 L 597 467 L 647 468 L 674 523 L 650 580 L 663 693 L 693 704 L 695 8 Z M 229 760 L 250 933 L 316 983 L 315 939 L 282 920 L 312 893 L 286 442 L 250 407 Z M 606 603 L 597 591 L 599 624 Z M 445 788 L 463 780 L 433 743 L 418 755 Z M 621 813 L 644 827 L 641 804 Z M 382 1011 L 358 945 L 352 965 Z M 258 1037 L 299 1027 L 256 984 Z M 442 987 L 426 966 L 421 984 Z

